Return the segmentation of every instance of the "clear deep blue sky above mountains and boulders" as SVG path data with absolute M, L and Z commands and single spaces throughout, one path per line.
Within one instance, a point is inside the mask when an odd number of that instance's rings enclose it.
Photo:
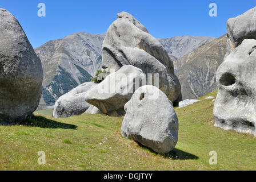
M 46 16 L 39 17 L 38 3 L 45 3 Z M 217 17 L 209 16 L 209 4 L 217 4 Z M 226 34 L 226 21 L 256 6 L 256 0 L 0 0 L 26 32 L 32 46 L 74 32 L 103 34 L 126 11 L 138 19 L 155 38 Z

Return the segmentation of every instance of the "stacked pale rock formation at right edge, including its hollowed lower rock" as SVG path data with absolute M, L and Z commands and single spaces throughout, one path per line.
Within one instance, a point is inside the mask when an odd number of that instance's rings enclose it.
M 215 125 L 256 137 L 256 7 L 227 20 L 227 55 L 216 74 Z

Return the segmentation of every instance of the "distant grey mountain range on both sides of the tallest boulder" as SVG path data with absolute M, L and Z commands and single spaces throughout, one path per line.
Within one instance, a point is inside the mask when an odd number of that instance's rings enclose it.
M 44 72 L 41 105 L 53 105 L 63 94 L 91 80 L 97 69 L 101 68 L 101 47 L 104 38 L 105 34 L 77 32 L 35 48 Z M 158 40 L 171 59 L 176 60 L 213 39 L 178 36 Z

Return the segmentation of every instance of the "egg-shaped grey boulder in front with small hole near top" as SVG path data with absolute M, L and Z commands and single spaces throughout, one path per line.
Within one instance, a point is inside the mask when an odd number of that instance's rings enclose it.
M 125 105 L 123 137 L 159 154 L 173 150 L 178 141 L 178 118 L 165 93 L 153 85 L 137 89 Z

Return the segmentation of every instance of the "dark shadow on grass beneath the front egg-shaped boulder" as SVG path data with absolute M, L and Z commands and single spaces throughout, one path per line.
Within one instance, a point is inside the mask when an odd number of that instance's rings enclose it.
M 160 156 L 162 156 L 163 158 L 166 158 L 166 159 L 173 159 L 173 160 L 199 159 L 198 156 L 195 156 L 193 154 L 190 154 L 190 153 L 187 153 L 185 151 L 179 150 L 178 148 L 174 148 L 174 150 L 168 152 L 167 154 L 158 154 L 157 152 L 151 150 L 151 148 L 143 146 L 139 142 L 136 142 L 136 143 L 138 143 L 138 145 L 140 147 L 142 147 L 143 150 L 150 151 L 150 152 L 154 153 L 155 155 L 160 155 Z

